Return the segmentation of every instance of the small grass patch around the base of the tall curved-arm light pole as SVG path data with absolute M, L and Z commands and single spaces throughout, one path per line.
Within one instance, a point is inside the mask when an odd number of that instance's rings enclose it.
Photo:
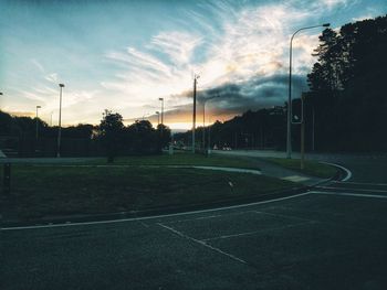
M 311 160 L 305 160 L 305 168 L 303 170 L 300 169 L 300 159 L 266 158 L 266 160 L 283 168 L 322 179 L 330 179 L 337 173 L 337 169 L 334 167 Z

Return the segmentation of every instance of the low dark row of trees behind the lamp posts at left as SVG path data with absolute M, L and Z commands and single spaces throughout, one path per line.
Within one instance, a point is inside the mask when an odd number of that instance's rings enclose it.
M 49 126 L 39 118 L 17 117 L 0 110 L 0 149 L 11 150 L 14 157 L 56 155 L 57 130 L 57 126 Z M 159 153 L 170 141 L 168 127 L 154 128 L 148 120 L 125 126 L 123 117 L 109 110 L 104 111 L 97 126 L 63 127 L 61 133 L 61 155 L 107 155 L 109 161 L 116 155 Z

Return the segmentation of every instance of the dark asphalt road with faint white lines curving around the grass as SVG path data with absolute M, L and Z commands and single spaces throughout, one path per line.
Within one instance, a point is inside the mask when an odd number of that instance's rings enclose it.
M 217 211 L 3 228 L 0 289 L 387 289 L 387 159 L 315 158 L 353 178 Z

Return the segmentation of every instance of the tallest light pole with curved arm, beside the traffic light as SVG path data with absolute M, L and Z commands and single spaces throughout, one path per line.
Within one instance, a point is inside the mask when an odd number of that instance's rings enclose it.
M 290 41 L 289 53 L 289 98 L 287 98 L 287 133 L 286 133 L 286 157 L 292 158 L 292 53 L 293 53 L 293 39 L 302 30 L 315 29 L 315 28 L 328 28 L 330 23 L 324 23 L 314 26 L 306 26 L 295 31 Z

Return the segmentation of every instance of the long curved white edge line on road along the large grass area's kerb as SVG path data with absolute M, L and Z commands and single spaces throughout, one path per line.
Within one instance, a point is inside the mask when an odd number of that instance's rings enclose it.
M 212 213 L 212 212 L 234 210 L 234 208 L 243 208 L 243 207 L 249 207 L 249 206 L 254 206 L 254 205 L 260 205 L 260 204 L 286 201 L 286 200 L 291 200 L 291 198 L 295 198 L 295 197 L 300 197 L 300 196 L 304 196 L 304 195 L 310 195 L 310 194 L 311 194 L 311 192 L 304 192 L 304 193 L 294 194 L 294 195 L 285 196 L 285 197 L 273 198 L 273 200 L 269 200 L 269 201 L 247 203 L 247 204 L 240 204 L 240 205 L 231 205 L 231 206 L 217 207 L 217 208 L 202 210 L 202 211 L 191 211 L 191 212 L 184 212 L 184 213 L 176 213 L 176 214 L 154 215 L 154 216 L 144 216 L 144 217 L 130 217 L 130 218 L 100 221 L 100 222 L 81 222 L 81 223 L 51 224 L 51 225 L 48 224 L 48 225 L 35 225 L 35 226 L 13 226 L 13 227 L 2 227 L 1 230 L 38 229 L 38 228 L 67 227 L 67 226 L 87 226 L 87 225 L 103 225 L 103 224 L 147 221 L 147 219 L 156 219 L 156 218 L 164 218 L 164 217 L 171 217 L 171 216 L 202 214 L 202 213 Z

